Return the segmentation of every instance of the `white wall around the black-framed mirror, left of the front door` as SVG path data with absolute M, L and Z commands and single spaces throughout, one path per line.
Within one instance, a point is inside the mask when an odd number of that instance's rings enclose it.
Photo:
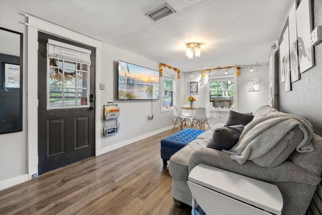
M 27 161 L 27 116 L 26 116 L 26 33 L 25 17 L 11 8 L 0 5 L 0 26 L 24 35 L 23 56 L 23 130 L 20 132 L 0 135 L 0 189 L 7 187 L 8 180 L 19 178 L 20 181 L 28 180 Z

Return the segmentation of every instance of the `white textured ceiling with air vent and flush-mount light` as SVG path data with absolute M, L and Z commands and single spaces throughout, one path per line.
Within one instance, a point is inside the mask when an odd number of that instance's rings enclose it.
M 292 2 L 1 0 L 1 5 L 181 71 L 192 71 L 267 62 Z M 145 16 L 166 3 L 177 13 L 157 22 Z M 202 43 L 201 57 L 186 57 L 189 42 Z

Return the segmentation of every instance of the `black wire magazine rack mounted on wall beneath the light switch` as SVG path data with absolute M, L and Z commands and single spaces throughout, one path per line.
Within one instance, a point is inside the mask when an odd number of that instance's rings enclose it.
M 109 136 L 119 132 L 120 123 L 117 121 L 119 115 L 120 108 L 118 105 L 113 104 L 113 102 L 108 102 L 107 105 L 104 105 L 104 136 Z

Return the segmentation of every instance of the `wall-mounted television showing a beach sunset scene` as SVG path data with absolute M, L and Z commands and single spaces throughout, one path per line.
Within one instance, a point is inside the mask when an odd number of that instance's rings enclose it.
M 159 99 L 159 71 L 118 61 L 117 100 Z

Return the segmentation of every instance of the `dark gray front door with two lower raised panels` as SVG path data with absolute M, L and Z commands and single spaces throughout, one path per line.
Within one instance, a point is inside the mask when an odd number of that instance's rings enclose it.
M 71 42 L 42 32 L 38 33 L 38 174 L 66 166 L 95 153 L 95 110 L 88 107 L 63 109 L 47 109 L 47 42 L 48 39 L 67 43 L 73 46 L 89 49 L 91 66 L 89 71 L 90 83 L 88 90 L 95 98 L 95 48 Z M 57 69 L 58 70 L 58 69 Z M 59 69 L 60 70 L 60 69 Z M 66 70 L 66 69 L 65 69 Z M 65 73 L 65 72 L 64 72 Z M 59 72 L 57 72 L 59 74 Z M 75 72 L 76 74 L 76 72 Z M 77 73 L 78 74 L 78 73 Z M 84 73 L 85 74 L 85 73 Z M 58 75 L 59 76 L 59 75 Z M 85 76 L 85 75 L 83 75 Z M 86 73 L 87 76 L 87 73 Z M 68 77 L 68 76 L 66 76 Z M 72 76 L 70 76 L 72 77 Z M 77 79 L 75 75 L 74 79 Z M 35 79 L 36 84 L 36 79 Z M 63 90 L 55 95 L 83 95 L 85 90 Z M 70 91 L 77 91 L 73 94 Z M 50 95 L 51 96 L 51 95 Z M 85 97 L 83 97 L 85 98 Z M 80 99 L 80 98 L 79 98 Z M 69 99 L 72 100 L 72 99 Z M 90 98 L 87 98 L 90 100 Z M 80 102 L 80 101 L 79 101 Z M 84 102 L 82 100 L 82 102 Z M 94 101 L 89 103 L 95 106 Z M 32 129 L 32 128 L 29 128 Z

